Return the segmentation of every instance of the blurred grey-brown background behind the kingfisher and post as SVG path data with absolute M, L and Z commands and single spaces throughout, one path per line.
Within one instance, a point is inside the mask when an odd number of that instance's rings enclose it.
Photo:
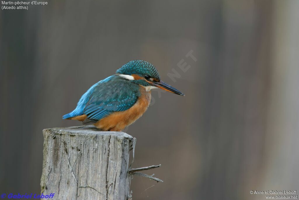
M 186 94 L 152 91 L 126 129 L 137 138 L 133 167 L 162 164 L 148 173 L 164 180 L 134 177 L 133 199 L 299 191 L 298 10 L 298 0 L 51 0 L 0 10 L 0 192 L 40 192 L 42 129 L 80 125 L 61 116 L 131 59 L 153 63 Z

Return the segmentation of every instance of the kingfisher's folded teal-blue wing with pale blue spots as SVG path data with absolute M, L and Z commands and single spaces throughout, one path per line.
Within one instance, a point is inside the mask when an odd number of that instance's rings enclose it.
M 83 124 L 93 124 L 113 112 L 131 108 L 140 96 L 139 86 L 127 80 L 115 80 L 99 84 L 94 88 L 83 114 Z

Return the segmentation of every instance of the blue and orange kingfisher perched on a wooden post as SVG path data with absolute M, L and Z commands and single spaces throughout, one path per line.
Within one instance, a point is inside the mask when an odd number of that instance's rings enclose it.
M 140 118 L 151 100 L 151 89 L 161 88 L 185 96 L 161 81 L 156 67 L 143 60 L 132 60 L 82 95 L 77 107 L 62 119 L 93 124 L 103 131 L 122 131 Z

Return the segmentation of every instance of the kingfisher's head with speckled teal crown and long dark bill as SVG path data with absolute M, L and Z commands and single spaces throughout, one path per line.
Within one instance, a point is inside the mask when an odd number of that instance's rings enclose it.
M 161 88 L 168 92 L 185 96 L 176 88 L 161 81 L 161 77 L 156 67 L 147 61 L 129 61 L 118 69 L 116 73 L 128 81 L 144 86 L 148 91 L 154 88 Z

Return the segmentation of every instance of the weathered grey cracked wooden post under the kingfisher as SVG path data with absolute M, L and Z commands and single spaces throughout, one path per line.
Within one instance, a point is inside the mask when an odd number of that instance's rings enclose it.
M 134 138 L 93 126 L 43 130 L 41 190 L 55 199 L 127 199 Z

